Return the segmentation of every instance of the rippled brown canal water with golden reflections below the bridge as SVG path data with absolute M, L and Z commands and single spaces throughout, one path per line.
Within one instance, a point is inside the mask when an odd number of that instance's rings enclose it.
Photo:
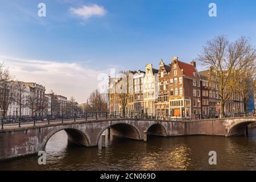
M 209 151 L 217 164 L 209 165 Z M 65 131 L 49 139 L 46 165 L 39 156 L 0 162 L 1 170 L 256 170 L 256 127 L 244 137 L 148 137 L 147 142 L 113 138 L 106 148 L 67 142 Z

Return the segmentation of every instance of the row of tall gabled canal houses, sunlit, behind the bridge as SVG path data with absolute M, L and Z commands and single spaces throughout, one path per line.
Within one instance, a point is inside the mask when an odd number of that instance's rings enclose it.
M 156 114 L 162 118 L 219 117 L 218 78 L 213 69 L 197 71 L 196 62 L 184 63 L 174 57 L 170 64 L 160 60 L 159 70 L 146 65 L 146 72 L 129 71 L 126 113 Z M 115 89 L 125 84 L 114 78 L 110 84 L 110 111 L 121 111 Z M 242 113 L 239 94 L 233 93 L 225 104 L 225 113 Z

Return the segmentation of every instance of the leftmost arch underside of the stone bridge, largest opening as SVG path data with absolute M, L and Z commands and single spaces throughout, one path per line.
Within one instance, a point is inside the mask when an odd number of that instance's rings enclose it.
M 81 146 L 90 146 L 90 138 L 89 136 L 82 132 L 79 129 L 74 129 L 72 127 L 62 127 L 61 129 L 55 129 L 51 132 L 49 132 L 46 137 L 44 137 L 42 142 L 42 149 L 46 150 L 46 145 L 48 140 L 57 132 L 64 130 L 68 135 L 69 142 L 79 144 Z

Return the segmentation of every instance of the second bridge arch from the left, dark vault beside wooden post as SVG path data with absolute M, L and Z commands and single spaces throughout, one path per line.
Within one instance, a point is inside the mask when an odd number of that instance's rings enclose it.
M 112 122 L 108 126 L 105 126 L 97 135 L 96 142 L 97 144 L 100 142 L 100 137 L 102 133 L 107 130 L 108 128 L 111 128 L 111 132 L 114 136 L 117 137 L 123 137 L 123 138 L 130 138 L 130 139 L 136 139 L 141 140 L 142 134 L 137 126 L 127 123 L 125 121 L 118 121 L 118 122 Z

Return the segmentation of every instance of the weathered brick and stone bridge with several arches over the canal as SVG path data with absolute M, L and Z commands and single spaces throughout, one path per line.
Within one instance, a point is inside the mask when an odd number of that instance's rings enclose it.
M 77 119 L 62 123 L 56 121 L 40 125 L 24 125 L 0 130 L 0 160 L 38 154 L 45 150 L 53 134 L 65 130 L 68 140 L 82 146 L 98 146 L 102 133 L 108 130 L 111 136 L 147 140 L 147 135 L 163 137 L 184 135 L 233 136 L 247 133 L 247 125 L 256 122 L 251 118 L 204 119 L 199 121 L 156 121 L 146 119 L 101 119 L 85 121 Z

